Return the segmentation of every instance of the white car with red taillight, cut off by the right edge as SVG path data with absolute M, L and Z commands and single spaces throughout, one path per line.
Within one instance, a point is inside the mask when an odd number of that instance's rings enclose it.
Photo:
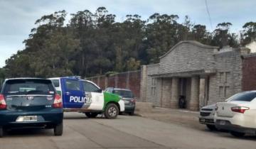
M 256 134 L 256 91 L 240 92 L 226 102 L 218 102 L 214 116 L 218 129 L 228 130 L 233 136 Z

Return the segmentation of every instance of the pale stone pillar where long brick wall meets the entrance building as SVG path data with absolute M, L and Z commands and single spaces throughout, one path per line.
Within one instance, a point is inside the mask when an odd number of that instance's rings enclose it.
M 147 70 L 146 65 L 142 65 L 141 67 L 141 80 L 140 80 L 140 91 L 139 91 L 139 100 L 146 102 L 146 87 L 149 85 L 147 84 Z

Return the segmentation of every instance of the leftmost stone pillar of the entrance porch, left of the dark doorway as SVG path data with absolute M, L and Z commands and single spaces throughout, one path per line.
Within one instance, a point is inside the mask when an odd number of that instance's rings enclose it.
M 178 108 L 178 77 L 173 77 L 171 81 L 171 108 Z

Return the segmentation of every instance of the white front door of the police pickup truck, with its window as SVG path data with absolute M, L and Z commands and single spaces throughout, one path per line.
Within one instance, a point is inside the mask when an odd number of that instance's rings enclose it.
M 87 103 L 83 106 L 85 109 L 102 110 L 104 107 L 104 96 L 102 89 L 96 84 L 87 81 L 82 82 L 82 89 L 87 95 Z

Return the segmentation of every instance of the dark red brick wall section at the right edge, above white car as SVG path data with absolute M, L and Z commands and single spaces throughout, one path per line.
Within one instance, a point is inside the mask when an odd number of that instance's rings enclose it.
M 256 54 L 242 60 L 242 90 L 256 90 Z

